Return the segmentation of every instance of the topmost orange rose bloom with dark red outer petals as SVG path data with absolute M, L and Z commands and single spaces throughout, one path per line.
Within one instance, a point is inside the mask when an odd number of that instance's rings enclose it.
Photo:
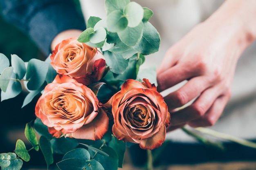
M 78 42 L 77 38 L 69 38 L 56 45 L 50 58 L 57 73 L 74 77 L 85 85 L 99 81 L 106 68 L 102 53 Z

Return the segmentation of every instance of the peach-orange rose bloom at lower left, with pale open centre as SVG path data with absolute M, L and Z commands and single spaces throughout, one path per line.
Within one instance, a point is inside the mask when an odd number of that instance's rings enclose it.
M 36 103 L 36 116 L 54 137 L 101 139 L 108 131 L 108 116 L 87 86 L 66 75 L 47 84 Z

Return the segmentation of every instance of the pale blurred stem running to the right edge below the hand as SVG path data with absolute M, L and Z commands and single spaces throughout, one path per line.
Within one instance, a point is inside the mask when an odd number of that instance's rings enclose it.
M 251 147 L 251 148 L 256 148 L 256 143 L 252 142 L 252 141 L 248 141 L 245 139 L 241 139 L 239 137 L 234 137 L 232 135 L 228 135 L 225 133 L 221 133 L 221 132 L 217 132 L 215 130 L 211 130 L 209 128 L 195 128 L 195 130 L 198 130 L 199 132 L 211 135 L 213 137 L 217 137 L 220 139 L 225 139 L 225 140 L 229 140 L 229 141 L 233 141 L 236 142 L 238 144 L 241 144 L 243 146 L 247 146 L 247 147 Z

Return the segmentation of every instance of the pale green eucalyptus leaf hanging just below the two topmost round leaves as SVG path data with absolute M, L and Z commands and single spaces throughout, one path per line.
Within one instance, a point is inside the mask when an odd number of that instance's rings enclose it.
M 123 31 L 119 31 L 117 35 L 119 36 L 120 40 L 127 46 L 134 46 L 141 40 L 142 33 L 143 22 L 140 22 L 138 26 L 133 28 L 127 26 Z

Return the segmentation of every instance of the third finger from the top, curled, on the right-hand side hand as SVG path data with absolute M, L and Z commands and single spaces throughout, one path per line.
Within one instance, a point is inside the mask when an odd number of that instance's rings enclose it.
M 190 106 L 171 113 L 173 126 L 202 117 L 219 96 L 218 88 L 208 88 Z

